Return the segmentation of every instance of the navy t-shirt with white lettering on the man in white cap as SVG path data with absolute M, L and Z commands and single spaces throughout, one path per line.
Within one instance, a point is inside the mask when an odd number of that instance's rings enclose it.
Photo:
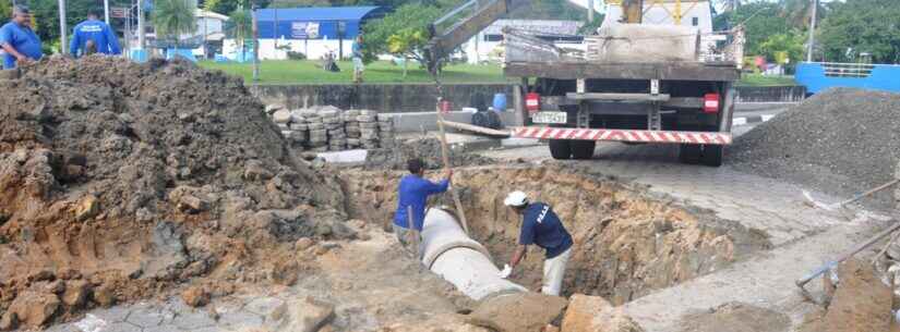
M 572 235 L 549 205 L 535 202 L 525 208 L 519 244 L 538 245 L 547 251 L 547 259 L 551 259 L 572 247 Z

